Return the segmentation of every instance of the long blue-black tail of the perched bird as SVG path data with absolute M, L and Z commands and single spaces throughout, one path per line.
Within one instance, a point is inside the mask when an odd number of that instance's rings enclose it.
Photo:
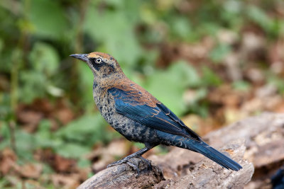
M 215 161 L 220 166 L 231 169 L 234 171 L 239 171 L 242 167 L 236 161 L 230 159 L 228 156 L 222 154 L 221 152 L 217 151 L 216 149 L 210 147 L 205 142 L 199 142 L 199 145 L 190 145 L 190 149 L 199 152 L 200 154 L 207 156 L 207 158 Z

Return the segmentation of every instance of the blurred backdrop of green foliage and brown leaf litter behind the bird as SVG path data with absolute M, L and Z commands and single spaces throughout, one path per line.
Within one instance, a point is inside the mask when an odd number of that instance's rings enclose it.
M 0 22 L 0 188 L 76 187 L 143 147 L 99 115 L 71 54 L 113 55 L 201 135 L 284 113 L 282 0 L 1 0 Z

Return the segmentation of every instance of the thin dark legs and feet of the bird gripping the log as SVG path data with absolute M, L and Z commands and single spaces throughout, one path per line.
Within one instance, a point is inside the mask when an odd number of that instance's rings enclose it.
M 150 150 L 150 149 L 151 149 L 151 148 L 148 148 L 148 147 L 145 147 L 145 148 L 143 148 L 143 149 L 140 149 L 139 151 L 136 151 L 135 153 L 133 153 L 133 154 L 131 154 L 131 155 L 129 155 L 129 156 L 126 156 L 124 159 L 121 159 L 121 160 L 116 161 L 116 162 L 114 162 L 114 163 L 112 163 L 112 164 L 109 164 L 107 167 L 109 168 L 109 167 L 111 167 L 111 166 L 116 166 L 116 165 L 120 165 L 120 164 L 124 164 L 124 163 L 127 163 L 127 164 L 128 164 L 128 163 L 129 163 L 129 159 L 131 159 L 131 158 L 133 158 L 133 157 L 138 157 L 138 158 L 140 158 L 143 162 L 145 162 L 145 163 L 148 164 L 148 166 L 149 166 L 149 164 L 151 165 L 151 163 L 150 163 L 147 159 L 144 159 L 144 158 L 142 157 L 142 155 L 145 154 L 146 151 L 148 151 L 148 150 Z M 139 173 L 139 168 L 138 168 L 137 166 L 134 166 L 132 163 L 130 163 L 129 166 L 135 168 L 135 169 L 138 171 L 138 173 Z

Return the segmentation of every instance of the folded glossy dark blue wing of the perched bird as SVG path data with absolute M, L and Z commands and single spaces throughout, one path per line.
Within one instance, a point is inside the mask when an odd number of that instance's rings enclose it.
M 138 101 L 139 98 L 133 91 L 123 91 L 119 88 L 110 88 L 108 91 L 114 97 L 117 113 L 155 130 L 178 134 L 200 141 L 200 137 L 162 103 L 158 102 L 154 107 L 151 107 L 146 103 Z

